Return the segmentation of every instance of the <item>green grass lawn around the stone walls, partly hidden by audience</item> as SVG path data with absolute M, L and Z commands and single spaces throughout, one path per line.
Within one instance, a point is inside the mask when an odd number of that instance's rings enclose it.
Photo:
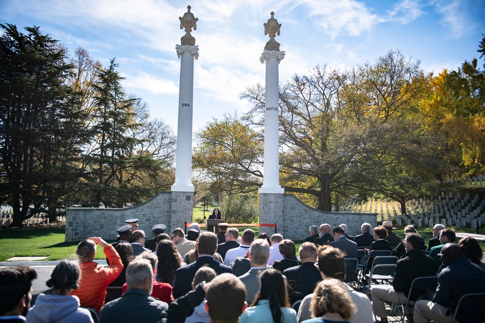
M 456 231 L 455 227 L 453 228 Z M 240 235 L 248 227 L 240 227 Z M 259 235 L 259 227 L 250 227 Z M 273 228 L 264 228 L 264 232 L 269 235 L 274 233 Z M 476 233 L 470 227 L 461 228 L 460 232 Z M 404 238 L 404 229 L 395 230 L 397 235 Z M 428 242 L 433 237 L 433 229 L 421 228 L 420 235 Z M 485 234 L 485 227 L 480 228 L 480 234 Z M 46 260 L 60 260 L 60 259 L 76 259 L 77 242 L 64 242 L 64 228 L 25 228 L 25 229 L 9 229 L 0 231 L 0 261 L 5 261 L 12 257 L 48 257 Z M 114 241 L 108 241 L 113 243 Z M 303 241 L 294 241 L 296 250 L 301 246 Z M 458 242 L 458 239 L 456 240 Z M 485 251 L 485 243 L 480 243 L 482 250 Z M 97 248 L 96 259 L 105 259 L 103 250 Z

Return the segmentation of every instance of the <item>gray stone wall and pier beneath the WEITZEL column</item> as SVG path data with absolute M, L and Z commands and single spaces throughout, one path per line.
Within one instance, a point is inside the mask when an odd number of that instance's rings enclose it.
M 276 223 L 285 239 L 304 240 L 311 225 L 328 223 L 332 228 L 345 223 L 348 234 L 360 234 L 362 223 L 377 226 L 376 213 L 325 212 L 308 206 L 292 194 L 259 194 L 259 223 Z M 262 229 L 261 229 L 262 230 Z M 273 233 L 272 230 L 265 230 Z

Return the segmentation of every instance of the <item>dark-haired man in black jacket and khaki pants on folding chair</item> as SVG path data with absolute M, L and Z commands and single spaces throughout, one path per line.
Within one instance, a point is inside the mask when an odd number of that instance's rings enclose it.
M 405 303 L 414 278 L 436 274 L 436 266 L 433 259 L 421 251 L 422 240 L 419 234 L 408 233 L 404 238 L 404 246 L 406 253 L 396 263 L 392 286 L 375 285 L 371 288 L 372 308 L 375 316 L 381 318 L 380 323 L 388 322 L 385 301 Z M 417 291 L 415 294 L 411 294 L 410 301 L 416 301 L 424 292 L 426 291 Z M 405 310 L 408 317 L 410 317 L 410 309 L 406 308 Z M 412 321 L 411 318 L 409 320 Z

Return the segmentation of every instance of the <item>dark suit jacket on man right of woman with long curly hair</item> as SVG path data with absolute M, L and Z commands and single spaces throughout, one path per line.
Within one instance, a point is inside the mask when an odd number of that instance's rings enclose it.
M 174 298 L 178 298 L 192 291 L 192 280 L 194 280 L 194 276 L 197 270 L 203 265 L 209 266 L 210 268 L 214 269 L 217 275 L 222 273 L 232 274 L 231 267 L 228 267 L 220 263 L 219 261 L 214 260 L 212 257 L 199 257 L 197 261 L 192 262 L 187 266 L 180 267 L 175 272 L 174 289 L 172 291 Z

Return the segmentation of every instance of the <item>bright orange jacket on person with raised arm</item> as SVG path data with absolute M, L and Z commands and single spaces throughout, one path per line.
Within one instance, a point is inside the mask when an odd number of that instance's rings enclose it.
M 111 265 L 97 268 L 97 262 L 80 262 L 79 288 L 71 292 L 71 295 L 79 297 L 82 307 L 94 308 L 98 313 L 104 305 L 106 286 L 111 284 L 123 270 L 121 258 L 113 246 L 106 246 L 103 251 Z

